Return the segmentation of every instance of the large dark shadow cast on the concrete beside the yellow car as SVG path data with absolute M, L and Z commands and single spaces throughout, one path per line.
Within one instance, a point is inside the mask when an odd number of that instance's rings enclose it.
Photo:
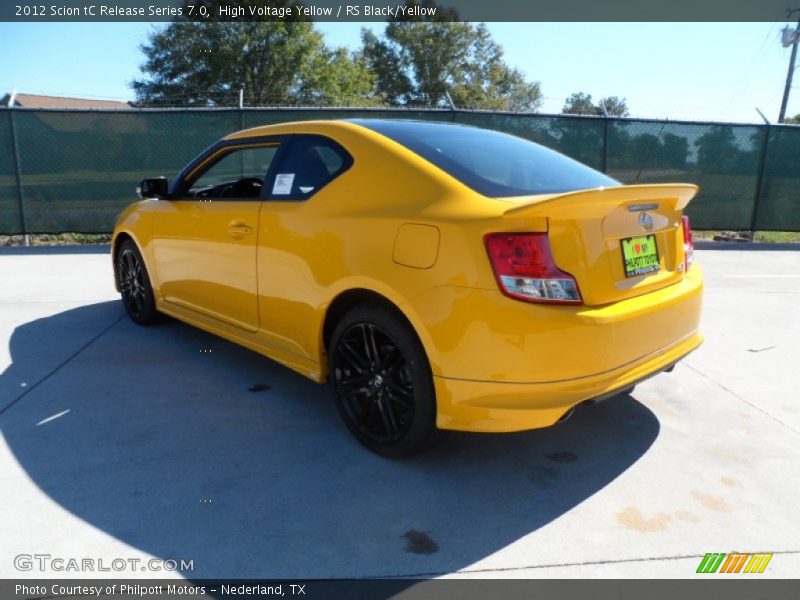
M 597 493 L 659 433 L 624 395 L 550 429 L 452 433 L 386 460 L 350 437 L 326 386 L 176 321 L 144 328 L 120 316 L 106 302 L 18 327 L 0 390 L 50 376 L 0 429 L 60 506 L 156 557 L 193 561 L 188 578 L 464 569 Z M 36 364 L 69 332 L 104 328 L 55 366 Z

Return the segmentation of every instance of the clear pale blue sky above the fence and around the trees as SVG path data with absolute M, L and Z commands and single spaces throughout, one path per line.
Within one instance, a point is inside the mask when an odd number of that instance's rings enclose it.
M 540 112 L 561 112 L 573 92 L 621 96 L 631 116 L 775 122 L 789 48 L 785 23 L 488 23 L 506 61 L 544 95 Z M 20 92 L 133 99 L 147 23 L 1 23 L 0 96 Z M 331 46 L 355 49 L 361 27 L 318 23 Z M 800 65 L 799 65 L 800 66 Z M 798 68 L 800 71 L 800 68 Z M 787 116 L 800 113 L 800 72 Z

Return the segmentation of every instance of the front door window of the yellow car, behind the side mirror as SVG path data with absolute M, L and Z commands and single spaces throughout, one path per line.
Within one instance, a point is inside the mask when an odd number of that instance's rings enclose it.
M 259 198 L 278 144 L 231 150 L 193 176 L 186 198 Z

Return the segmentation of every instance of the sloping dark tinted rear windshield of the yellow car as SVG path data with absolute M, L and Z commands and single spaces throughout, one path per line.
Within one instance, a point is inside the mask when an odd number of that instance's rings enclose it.
M 620 185 L 599 171 L 522 138 L 422 121 L 354 119 L 490 197 L 553 194 Z

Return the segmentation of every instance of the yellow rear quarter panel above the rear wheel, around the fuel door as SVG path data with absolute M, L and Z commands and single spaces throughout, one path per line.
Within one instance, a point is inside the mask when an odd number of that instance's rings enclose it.
M 432 346 L 406 302 L 437 285 L 490 284 L 462 224 L 484 221 L 497 209 L 487 209 L 471 190 L 370 130 L 338 124 L 295 131 L 328 135 L 354 163 L 309 200 L 262 205 L 259 314 L 269 343 L 324 363 L 328 306 L 343 292 L 367 289 L 398 306 L 423 345 Z M 398 232 L 408 225 L 438 232 L 432 264 L 396 260 Z

